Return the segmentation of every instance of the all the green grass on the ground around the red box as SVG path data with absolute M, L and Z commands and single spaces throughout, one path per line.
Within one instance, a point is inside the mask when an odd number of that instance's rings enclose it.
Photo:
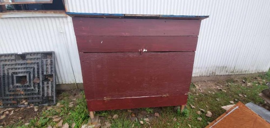
M 260 77 L 266 81 L 270 81 L 270 72 L 267 72 L 264 75 L 260 75 Z M 204 93 L 200 93 L 196 91 L 196 88 L 193 84 L 190 86 L 187 109 L 184 113 L 177 113 L 174 111 L 173 107 L 162 107 L 160 112 L 160 117 L 154 118 L 150 121 L 150 125 L 147 124 L 143 119 L 138 119 L 138 121 L 131 121 L 129 118 L 131 113 L 127 110 L 112 110 L 112 111 L 99 111 L 96 115 L 104 117 L 102 124 L 104 122 L 109 122 L 111 124 L 110 128 L 189 128 L 188 125 L 191 125 L 191 128 L 202 128 L 208 125 L 208 122 L 212 122 L 217 117 L 225 112 L 221 108 L 221 106 L 231 104 L 229 101 L 234 101 L 237 103 L 238 101 L 245 103 L 253 102 L 255 104 L 264 103 L 264 100 L 258 96 L 258 94 L 268 87 L 265 84 L 258 84 L 254 78 L 243 78 L 245 81 L 252 83 L 252 86 L 242 86 L 241 80 L 240 82 L 235 79 L 229 79 L 223 81 L 222 89 L 226 90 L 226 92 L 216 90 L 216 89 L 204 89 Z M 220 82 L 220 81 L 219 81 Z M 257 84 L 257 85 L 256 85 Z M 195 90 L 195 91 L 194 91 Z M 211 93 L 208 93 L 210 91 Z M 215 94 L 212 94 L 215 92 Z M 243 97 L 239 96 L 242 94 Z M 22 122 L 17 124 L 13 124 L 12 126 L 8 126 L 9 128 L 47 128 L 49 125 L 54 127 L 56 125 L 53 122 L 52 116 L 59 116 L 63 119 L 63 124 L 68 123 L 71 126 L 73 123 L 76 123 L 75 128 L 81 128 L 81 125 L 86 124 L 89 116 L 88 110 L 86 106 L 86 101 L 84 94 L 81 93 L 82 97 L 77 98 L 75 102 L 75 106 L 69 108 L 69 103 L 72 101 L 68 97 L 70 94 L 62 93 L 60 97 L 66 97 L 62 100 L 59 100 L 63 107 L 57 108 L 54 106 L 54 109 L 47 110 L 44 109 L 42 114 L 35 119 L 29 121 L 29 125 L 25 126 Z M 246 97 L 244 97 L 246 95 Z M 220 99 L 219 101 L 216 98 Z M 235 101 L 238 99 L 238 101 Z M 196 108 L 191 108 L 190 104 L 194 105 Z M 208 107 L 207 107 L 208 106 Z M 206 111 L 211 111 L 213 116 L 206 117 L 206 112 L 201 115 L 198 115 L 196 112 L 199 111 L 199 108 L 202 108 Z M 146 111 L 148 114 L 153 113 L 153 108 L 141 108 L 139 111 Z M 117 119 L 108 119 L 108 117 L 113 117 L 113 115 L 117 114 L 119 118 Z M 197 121 L 197 118 L 202 118 L 202 121 Z M 176 121 L 174 121 L 174 118 Z M 144 124 L 141 125 L 139 121 L 143 121 Z M 21 126 L 21 127 L 18 127 Z

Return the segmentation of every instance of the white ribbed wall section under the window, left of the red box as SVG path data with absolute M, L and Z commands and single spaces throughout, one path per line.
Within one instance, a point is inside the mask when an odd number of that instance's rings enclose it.
M 0 30 L 0 54 L 55 51 L 56 83 L 82 83 L 70 17 L 0 18 Z

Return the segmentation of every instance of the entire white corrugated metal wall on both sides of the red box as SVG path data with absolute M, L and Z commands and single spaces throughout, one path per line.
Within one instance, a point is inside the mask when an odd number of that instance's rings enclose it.
M 210 15 L 202 21 L 193 76 L 270 67 L 270 0 L 65 0 L 82 13 Z M 55 51 L 57 83 L 82 83 L 70 17 L 0 18 L 0 53 Z M 74 72 L 74 74 L 73 74 Z

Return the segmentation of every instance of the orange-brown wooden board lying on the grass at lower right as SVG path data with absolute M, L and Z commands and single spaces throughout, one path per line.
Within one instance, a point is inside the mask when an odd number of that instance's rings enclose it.
M 232 111 L 235 107 L 234 111 Z M 232 111 L 230 114 L 228 114 Z M 227 115 L 228 114 L 228 115 Z M 227 116 L 226 116 L 227 115 Z M 224 117 L 224 118 L 223 118 Z M 222 119 L 223 118 L 223 119 Z M 214 125 L 220 120 L 216 125 Z M 259 115 L 247 108 L 242 102 L 238 102 L 206 128 L 270 128 L 270 124 Z

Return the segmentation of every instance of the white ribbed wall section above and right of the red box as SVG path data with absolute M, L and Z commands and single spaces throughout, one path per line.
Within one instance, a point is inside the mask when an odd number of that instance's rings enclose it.
M 270 0 L 66 0 L 68 12 L 210 15 L 202 21 L 193 76 L 270 67 Z

